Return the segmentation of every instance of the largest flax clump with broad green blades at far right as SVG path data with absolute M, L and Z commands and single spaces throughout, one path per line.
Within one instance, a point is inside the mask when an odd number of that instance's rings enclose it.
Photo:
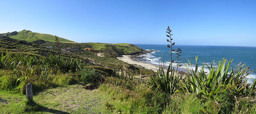
M 217 68 L 213 67 L 214 61 L 211 66 L 207 65 L 210 71 L 207 75 L 204 73 L 204 64 L 202 65 L 202 69 L 199 71 L 197 58 L 198 57 L 196 57 L 196 68 L 195 70 L 192 69 L 192 73 L 189 68 L 185 64 L 184 65 L 191 74 L 187 76 L 189 82 L 188 85 L 191 88 L 191 91 L 197 94 L 199 98 L 201 98 L 202 95 L 212 98 L 213 95 L 220 94 L 225 90 L 229 90 L 233 95 L 237 96 L 246 95 L 246 88 L 249 88 L 246 76 L 249 73 L 247 73 L 247 69 L 244 68 L 245 64 L 241 66 L 238 64 L 234 69 L 231 68 L 229 71 L 229 66 L 232 60 L 227 61 L 227 59 L 223 58 L 222 61 L 219 61 Z M 189 60 L 188 62 L 191 66 Z M 253 85 L 256 84 L 254 83 Z

